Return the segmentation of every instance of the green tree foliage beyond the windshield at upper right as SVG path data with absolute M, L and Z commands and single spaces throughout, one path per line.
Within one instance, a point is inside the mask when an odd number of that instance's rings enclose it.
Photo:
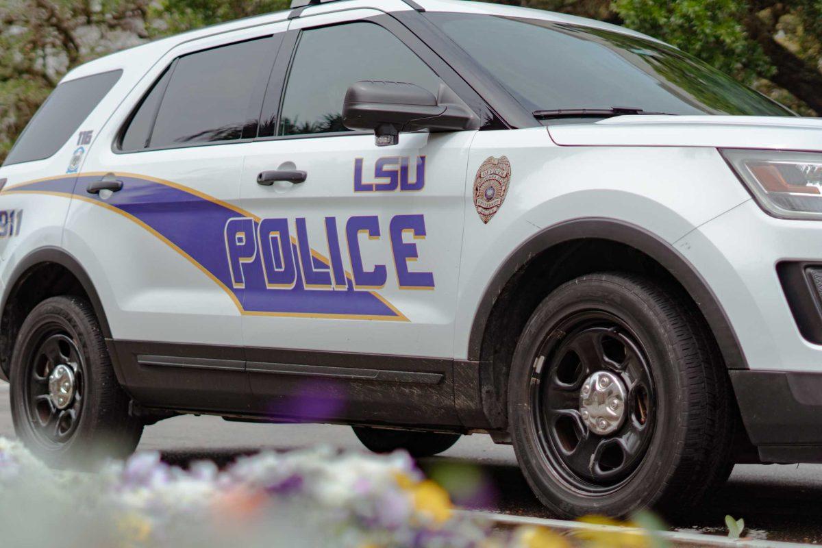
M 494 0 L 488 0 L 493 2 Z M 501 0 L 626 25 L 774 99 L 822 113 L 822 0 Z

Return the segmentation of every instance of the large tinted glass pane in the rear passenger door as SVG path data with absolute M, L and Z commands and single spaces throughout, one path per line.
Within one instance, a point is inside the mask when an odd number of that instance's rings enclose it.
M 150 147 L 256 136 L 278 41 L 251 40 L 179 58 L 150 134 Z

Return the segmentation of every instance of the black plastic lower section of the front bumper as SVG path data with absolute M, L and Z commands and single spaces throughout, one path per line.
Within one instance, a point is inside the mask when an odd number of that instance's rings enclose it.
M 731 371 L 731 382 L 763 463 L 822 463 L 822 375 Z

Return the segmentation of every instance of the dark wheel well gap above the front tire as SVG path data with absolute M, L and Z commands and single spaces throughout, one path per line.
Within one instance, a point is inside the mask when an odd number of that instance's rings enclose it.
M 511 361 L 520 334 L 533 311 L 561 284 L 584 274 L 606 271 L 641 274 L 653 279 L 667 291 L 685 297 L 705 321 L 681 283 L 657 260 L 635 247 L 599 238 L 575 239 L 551 246 L 531 256 L 510 276 L 487 318 L 479 348 L 480 383 L 483 410 L 494 426 L 507 426 Z

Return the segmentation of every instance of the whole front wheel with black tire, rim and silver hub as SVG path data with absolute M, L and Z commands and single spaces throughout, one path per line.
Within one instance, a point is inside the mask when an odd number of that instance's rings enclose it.
M 525 325 L 508 387 L 510 433 L 533 492 L 563 518 L 695 506 L 727 473 L 723 368 L 676 291 L 628 274 L 557 288 Z

